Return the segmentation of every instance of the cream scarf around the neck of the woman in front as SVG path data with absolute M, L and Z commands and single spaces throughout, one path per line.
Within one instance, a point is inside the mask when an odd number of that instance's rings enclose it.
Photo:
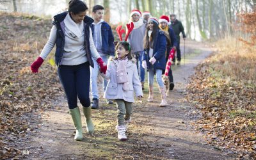
M 69 13 L 64 19 L 65 24 L 65 36 L 68 36 L 68 38 L 78 40 L 81 38 L 81 36 L 84 36 L 84 22 L 76 23 L 72 18 L 70 17 Z

